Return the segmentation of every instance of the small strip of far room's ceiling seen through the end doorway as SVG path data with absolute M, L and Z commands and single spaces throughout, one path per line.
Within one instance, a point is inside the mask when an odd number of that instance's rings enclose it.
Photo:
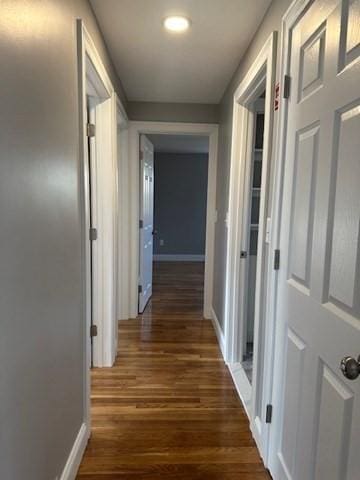
M 198 135 L 146 135 L 155 152 L 209 153 L 209 137 Z

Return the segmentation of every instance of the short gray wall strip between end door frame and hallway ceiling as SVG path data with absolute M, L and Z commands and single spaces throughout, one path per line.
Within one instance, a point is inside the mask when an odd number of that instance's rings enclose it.
M 219 105 L 202 103 L 129 102 L 130 120 L 218 123 Z

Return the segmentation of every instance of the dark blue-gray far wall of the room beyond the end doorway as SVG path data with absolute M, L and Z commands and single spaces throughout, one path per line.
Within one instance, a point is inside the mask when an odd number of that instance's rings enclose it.
M 155 255 L 205 254 L 207 168 L 208 154 L 155 153 Z

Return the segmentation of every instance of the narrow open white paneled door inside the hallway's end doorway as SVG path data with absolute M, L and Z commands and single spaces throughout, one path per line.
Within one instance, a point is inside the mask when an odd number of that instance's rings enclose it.
M 154 147 L 140 136 L 140 271 L 139 313 L 152 295 L 152 262 L 154 230 Z

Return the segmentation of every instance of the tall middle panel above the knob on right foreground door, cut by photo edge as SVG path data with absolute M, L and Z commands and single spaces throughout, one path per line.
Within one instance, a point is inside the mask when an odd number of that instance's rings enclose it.
M 359 27 L 360 28 L 360 27 Z M 335 121 L 334 225 L 331 239 L 328 300 L 358 316 L 360 107 L 346 108 Z

